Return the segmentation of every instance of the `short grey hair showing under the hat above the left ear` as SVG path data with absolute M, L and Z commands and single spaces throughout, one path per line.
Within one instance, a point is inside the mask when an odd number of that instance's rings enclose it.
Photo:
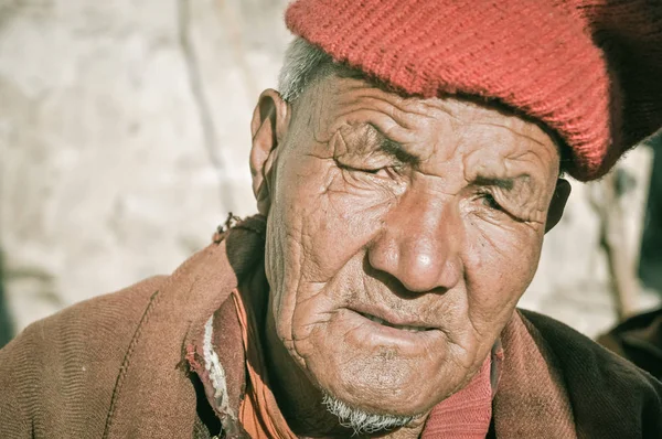
M 278 75 L 278 90 L 288 103 L 296 100 L 314 79 L 330 73 L 349 69 L 335 63 L 329 54 L 297 36 L 285 52 Z

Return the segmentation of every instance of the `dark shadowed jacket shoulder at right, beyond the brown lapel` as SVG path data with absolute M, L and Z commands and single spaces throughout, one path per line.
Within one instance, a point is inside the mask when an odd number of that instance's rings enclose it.
M 641 430 L 637 437 L 662 432 L 662 383 L 562 322 L 520 312 L 552 350 L 579 427 L 596 433 L 595 428 L 608 428 L 615 419 L 629 419 L 631 432 Z

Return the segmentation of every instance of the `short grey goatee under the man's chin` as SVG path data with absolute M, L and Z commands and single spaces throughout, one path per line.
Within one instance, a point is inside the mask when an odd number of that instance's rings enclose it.
M 340 420 L 340 425 L 354 430 L 356 435 L 374 433 L 383 430 L 404 427 L 418 416 L 395 416 L 369 414 L 364 410 L 348 406 L 345 403 L 327 394 L 322 403 L 332 415 Z

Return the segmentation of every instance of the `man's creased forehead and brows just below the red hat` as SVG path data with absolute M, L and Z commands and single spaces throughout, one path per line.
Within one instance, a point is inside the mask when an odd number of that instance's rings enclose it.
M 316 141 L 341 136 L 348 152 L 378 151 L 430 174 L 455 165 L 471 181 L 532 174 L 530 183 L 553 184 L 558 176 L 552 137 L 508 108 L 462 96 L 403 96 L 333 74 L 311 85 L 300 103 Z

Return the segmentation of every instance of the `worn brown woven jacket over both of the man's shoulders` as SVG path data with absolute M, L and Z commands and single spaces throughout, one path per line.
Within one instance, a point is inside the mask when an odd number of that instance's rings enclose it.
M 210 410 L 186 346 L 224 309 L 247 274 L 261 269 L 264 220 L 255 217 L 168 277 L 98 297 L 30 325 L 0 351 L 0 438 L 209 438 Z M 226 308 L 226 307 L 225 307 Z M 504 339 L 532 334 L 565 384 L 576 436 L 662 437 L 662 384 L 546 317 L 516 314 Z M 232 333 L 225 334 L 232 341 Z M 229 342 L 228 342 L 229 343 Z M 504 343 L 505 361 L 510 355 Z M 229 352 L 228 355 L 234 355 Z M 512 370 L 526 367 L 526 358 Z M 504 365 L 504 374 L 509 372 Z M 511 373 L 511 375 L 514 373 Z M 545 418 L 547 395 L 531 376 L 510 376 L 494 399 L 496 437 L 559 436 Z M 508 382 L 506 382 L 508 383 Z M 231 404 L 241 398 L 242 383 Z M 532 429 L 517 414 L 538 419 Z M 538 418 L 535 415 L 538 414 Z M 500 427 L 500 425 L 503 427 Z M 500 431 L 509 431 L 508 435 Z M 522 435 L 517 435 L 521 431 Z

